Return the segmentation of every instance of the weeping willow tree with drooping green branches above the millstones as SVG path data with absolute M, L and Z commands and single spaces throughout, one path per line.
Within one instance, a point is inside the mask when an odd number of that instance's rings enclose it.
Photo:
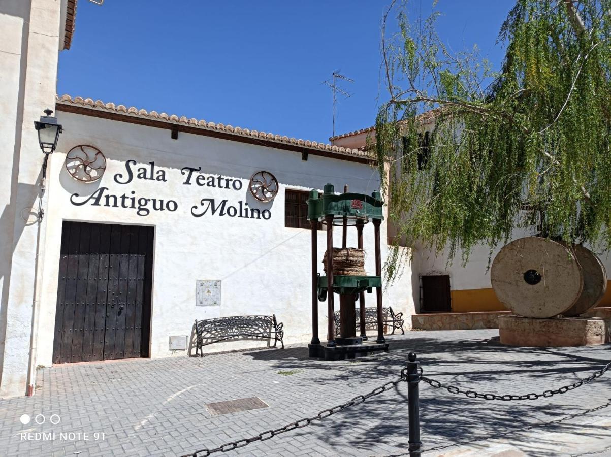
M 383 20 L 389 100 L 373 146 L 395 239 L 461 252 L 463 263 L 516 229 L 608 249 L 611 0 L 518 0 L 497 71 L 477 48 L 445 46 L 437 13 L 409 21 L 406 8 L 392 4 Z M 392 252 L 390 277 L 401 250 Z

